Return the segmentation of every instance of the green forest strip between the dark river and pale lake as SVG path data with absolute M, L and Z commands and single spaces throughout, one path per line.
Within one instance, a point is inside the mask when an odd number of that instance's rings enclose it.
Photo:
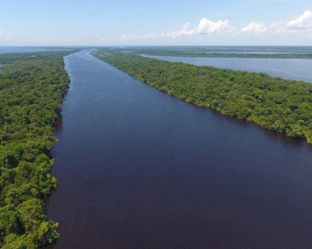
M 108 55 L 109 53 L 111 55 Z M 265 73 L 216 69 L 99 50 L 96 57 L 200 107 L 253 121 L 312 143 L 312 85 Z

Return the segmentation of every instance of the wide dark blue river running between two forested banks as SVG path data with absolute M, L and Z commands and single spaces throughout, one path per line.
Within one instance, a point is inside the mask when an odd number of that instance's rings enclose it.
M 311 249 L 312 146 L 154 89 L 83 50 L 55 129 L 48 249 Z

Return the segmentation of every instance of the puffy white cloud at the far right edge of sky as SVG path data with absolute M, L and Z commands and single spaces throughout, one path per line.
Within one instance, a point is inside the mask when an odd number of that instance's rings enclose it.
M 312 12 L 305 11 L 299 18 L 288 22 L 286 28 L 290 33 L 312 31 Z

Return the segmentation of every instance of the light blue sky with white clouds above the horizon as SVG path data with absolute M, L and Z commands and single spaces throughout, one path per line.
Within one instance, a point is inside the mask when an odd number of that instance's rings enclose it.
M 312 46 L 312 0 L 0 0 L 0 46 Z

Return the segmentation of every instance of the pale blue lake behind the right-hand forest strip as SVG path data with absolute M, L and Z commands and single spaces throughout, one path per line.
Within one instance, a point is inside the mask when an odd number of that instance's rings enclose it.
M 312 83 L 312 59 L 277 59 L 277 58 L 204 58 L 145 55 L 144 57 L 166 61 L 179 61 L 196 66 L 265 72 L 273 77 L 303 80 Z

